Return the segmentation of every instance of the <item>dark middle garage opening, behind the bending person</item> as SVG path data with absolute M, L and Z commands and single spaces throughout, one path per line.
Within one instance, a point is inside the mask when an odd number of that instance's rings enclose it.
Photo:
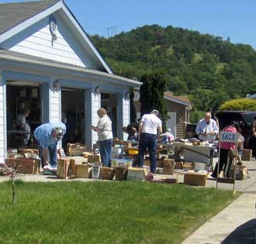
M 63 139 L 63 148 L 67 143 L 85 143 L 85 91 L 74 88 L 61 88 L 62 122 L 67 133 Z

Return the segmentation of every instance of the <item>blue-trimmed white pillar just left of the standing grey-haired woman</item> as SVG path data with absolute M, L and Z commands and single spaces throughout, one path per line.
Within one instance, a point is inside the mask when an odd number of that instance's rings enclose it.
M 101 95 L 94 92 L 94 88 L 88 88 L 85 91 L 85 125 L 86 125 L 86 146 L 92 149 L 93 144 L 98 140 L 97 132 L 91 129 L 96 126 L 99 121 L 97 111 L 101 106 Z

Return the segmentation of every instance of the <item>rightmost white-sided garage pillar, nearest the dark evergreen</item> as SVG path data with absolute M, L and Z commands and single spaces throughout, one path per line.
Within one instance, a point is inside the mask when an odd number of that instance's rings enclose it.
M 130 99 L 125 94 L 118 95 L 118 137 L 127 139 L 128 134 L 123 132 L 123 126 L 130 124 Z

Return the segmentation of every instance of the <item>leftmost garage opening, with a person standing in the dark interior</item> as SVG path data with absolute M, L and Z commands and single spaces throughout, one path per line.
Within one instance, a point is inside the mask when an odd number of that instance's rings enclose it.
M 7 81 L 7 147 L 33 147 L 33 132 L 42 123 L 40 84 Z

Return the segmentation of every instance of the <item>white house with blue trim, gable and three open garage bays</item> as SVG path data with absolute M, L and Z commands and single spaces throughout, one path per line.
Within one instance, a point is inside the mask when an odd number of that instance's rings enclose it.
M 0 163 L 12 123 L 26 107 L 32 129 L 61 121 L 61 112 L 69 113 L 70 127 L 85 123 L 82 137 L 91 148 L 97 134 L 90 127 L 104 106 L 114 134 L 123 138 L 130 122 L 127 94 L 138 86 L 112 74 L 64 1 L 0 4 Z

